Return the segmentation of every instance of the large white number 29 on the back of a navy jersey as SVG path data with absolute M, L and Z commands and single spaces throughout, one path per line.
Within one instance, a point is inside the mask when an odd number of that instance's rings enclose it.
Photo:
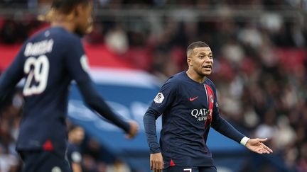
M 23 67 L 26 78 L 26 84 L 23 87 L 23 96 L 40 94 L 45 91 L 49 74 L 49 61 L 45 55 L 38 58 L 28 57 Z

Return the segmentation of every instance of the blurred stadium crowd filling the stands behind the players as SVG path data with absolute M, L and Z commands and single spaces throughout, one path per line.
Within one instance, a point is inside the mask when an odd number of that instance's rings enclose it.
M 48 1 L 0 0 L 2 8 L 15 3 L 25 8 L 48 6 Z M 269 146 L 289 169 L 307 171 L 307 1 L 97 0 L 95 4 L 95 30 L 85 43 L 107 45 L 122 60 L 162 81 L 186 69 L 185 48 L 190 42 L 207 42 L 215 58 L 209 78 L 217 86 L 222 115 L 250 137 L 269 138 Z M 251 13 L 237 16 L 234 9 L 246 7 Z M 110 9 L 136 14 L 113 15 Z M 148 13 L 139 15 L 138 10 Z M 301 17 L 293 16 L 294 11 Z M 43 27 L 45 23 L 33 15 L 0 16 L 0 42 L 21 43 Z M 2 107 L 0 171 L 18 168 L 14 142 L 22 103 L 17 92 Z M 99 144 L 85 140 L 83 168 L 104 171 Z M 125 166 L 120 161 L 113 166 L 117 164 Z

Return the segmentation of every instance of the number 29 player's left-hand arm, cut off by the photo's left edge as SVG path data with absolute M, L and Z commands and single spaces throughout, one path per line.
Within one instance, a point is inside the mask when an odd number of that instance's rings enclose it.
M 18 81 L 23 78 L 23 48 L 15 57 L 12 64 L 0 76 L 0 107 L 4 99 L 14 90 Z

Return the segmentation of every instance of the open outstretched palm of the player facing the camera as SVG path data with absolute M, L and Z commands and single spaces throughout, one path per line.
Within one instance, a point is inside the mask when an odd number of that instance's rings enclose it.
M 266 139 L 249 139 L 247 141 L 247 144 L 245 145 L 249 150 L 254 151 L 258 154 L 271 154 L 273 151 L 269 148 L 266 147 L 263 142 L 266 142 Z

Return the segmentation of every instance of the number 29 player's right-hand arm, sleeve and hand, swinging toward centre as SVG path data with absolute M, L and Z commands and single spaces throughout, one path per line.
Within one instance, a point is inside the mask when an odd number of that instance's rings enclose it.
M 87 74 L 87 57 L 85 56 L 80 39 L 75 39 L 73 42 L 68 43 L 65 64 L 72 79 L 77 82 L 85 103 L 99 113 L 99 115 L 102 115 L 102 117 L 122 128 L 128 134 L 128 138 L 134 137 L 138 131 L 136 122 L 122 120 L 109 108 L 109 105 L 107 105 L 104 99 L 99 96 L 92 79 Z

